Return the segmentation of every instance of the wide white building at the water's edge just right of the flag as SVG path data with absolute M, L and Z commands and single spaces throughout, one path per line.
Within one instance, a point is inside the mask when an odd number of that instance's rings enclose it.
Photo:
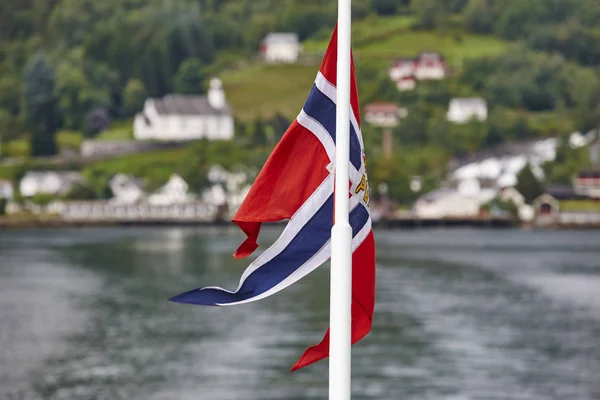
M 438 189 L 421 196 L 413 205 L 419 218 L 465 218 L 479 214 L 480 200 L 455 189 Z

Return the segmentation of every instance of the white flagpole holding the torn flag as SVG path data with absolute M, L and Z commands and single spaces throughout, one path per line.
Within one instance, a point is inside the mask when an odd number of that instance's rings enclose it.
M 352 228 L 348 222 L 350 162 L 351 0 L 338 0 L 335 223 L 331 230 L 329 400 L 350 400 Z

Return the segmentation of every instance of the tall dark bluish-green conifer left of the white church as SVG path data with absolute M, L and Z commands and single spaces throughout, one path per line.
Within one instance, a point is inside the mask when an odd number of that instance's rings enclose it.
M 54 97 L 54 70 L 43 55 L 37 55 L 25 69 L 25 107 L 31 125 L 31 154 L 56 153 L 54 134 L 59 125 Z

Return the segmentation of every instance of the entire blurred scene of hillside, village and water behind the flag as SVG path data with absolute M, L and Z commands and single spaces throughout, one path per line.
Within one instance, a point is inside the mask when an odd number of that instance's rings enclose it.
M 353 0 L 376 222 L 355 398 L 600 398 L 600 3 Z M 337 3 L 0 2 L 0 398 L 312 399 L 328 269 L 233 288 L 228 221 Z M 265 232 L 272 243 L 281 225 Z

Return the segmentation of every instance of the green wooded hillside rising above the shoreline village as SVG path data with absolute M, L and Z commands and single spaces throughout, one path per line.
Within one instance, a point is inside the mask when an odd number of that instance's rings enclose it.
M 410 177 L 423 177 L 423 190 L 435 187 L 452 159 L 598 128 L 598 4 L 353 0 L 361 103 L 395 102 L 408 111 L 393 131 L 390 158 L 381 156 L 381 131 L 363 125 L 371 186 L 386 182 L 394 200 L 409 202 Z M 146 98 L 204 94 L 212 76 L 222 78 L 236 117 L 232 143 L 70 167 L 93 175 L 97 193 L 118 170 L 155 186 L 174 170 L 195 179 L 210 162 L 259 167 L 300 111 L 336 16 L 336 3 L 320 0 L 3 0 L 0 157 L 13 159 L 0 165 L 0 176 L 51 168 L 38 157 L 76 152 L 85 138 L 129 139 Z M 304 51 L 297 64 L 258 59 L 269 32 L 299 35 Z M 387 76 L 390 64 L 422 51 L 442 53 L 449 76 L 398 92 Z M 487 119 L 449 123 L 454 97 L 483 98 Z M 590 162 L 564 143 L 547 183 L 568 183 Z

